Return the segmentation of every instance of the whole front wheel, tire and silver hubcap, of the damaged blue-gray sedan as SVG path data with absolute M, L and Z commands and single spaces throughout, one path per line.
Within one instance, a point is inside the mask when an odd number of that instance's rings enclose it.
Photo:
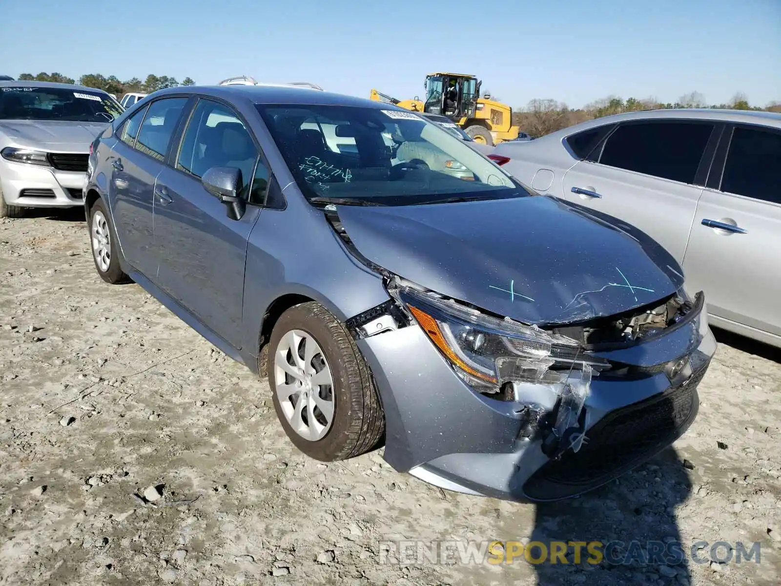
M 269 340 L 269 386 L 287 437 L 323 462 L 372 449 L 385 416 L 350 334 L 317 302 L 288 309 Z

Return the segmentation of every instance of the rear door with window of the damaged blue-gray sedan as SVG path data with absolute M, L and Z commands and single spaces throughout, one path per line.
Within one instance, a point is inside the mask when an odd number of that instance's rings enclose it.
M 187 98 L 162 98 L 131 116 L 112 153 L 112 215 L 130 265 L 154 280 L 152 205 L 155 179 Z

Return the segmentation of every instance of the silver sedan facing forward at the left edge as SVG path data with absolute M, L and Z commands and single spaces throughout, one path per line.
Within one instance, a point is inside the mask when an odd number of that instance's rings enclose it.
M 82 205 L 90 143 L 122 112 L 94 88 L 0 81 L 0 217 Z

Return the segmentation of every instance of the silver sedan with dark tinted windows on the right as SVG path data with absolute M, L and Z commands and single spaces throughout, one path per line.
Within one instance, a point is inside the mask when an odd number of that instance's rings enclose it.
M 621 114 L 494 153 L 540 193 L 651 235 L 705 291 L 713 325 L 781 346 L 781 114 Z

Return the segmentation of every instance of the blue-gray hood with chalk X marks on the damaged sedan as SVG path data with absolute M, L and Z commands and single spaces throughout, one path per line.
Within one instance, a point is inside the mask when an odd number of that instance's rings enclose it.
M 549 197 L 338 206 L 362 255 L 443 295 L 525 323 L 572 323 L 675 292 L 683 271 L 646 234 Z

